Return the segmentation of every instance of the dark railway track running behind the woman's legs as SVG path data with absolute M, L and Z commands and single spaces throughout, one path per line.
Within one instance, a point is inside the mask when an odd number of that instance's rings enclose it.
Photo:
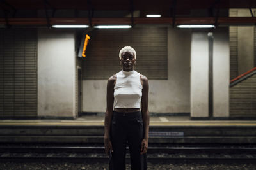
M 129 150 L 127 148 L 127 161 Z M 149 147 L 149 162 L 255 162 L 255 147 Z M 0 161 L 108 161 L 102 146 L 0 146 Z

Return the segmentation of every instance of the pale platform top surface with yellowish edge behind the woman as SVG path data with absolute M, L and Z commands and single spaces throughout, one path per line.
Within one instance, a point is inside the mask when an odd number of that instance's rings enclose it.
M 81 116 L 75 120 L 35 119 L 35 120 L 0 120 L 3 125 L 99 125 L 104 126 L 104 115 Z M 151 116 L 150 126 L 256 126 L 256 120 L 191 120 L 189 116 Z

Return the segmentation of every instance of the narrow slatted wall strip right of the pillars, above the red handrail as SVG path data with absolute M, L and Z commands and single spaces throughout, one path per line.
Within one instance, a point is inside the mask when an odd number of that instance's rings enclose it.
M 237 17 L 238 10 L 229 10 L 230 17 Z M 229 27 L 230 80 L 238 76 L 238 27 Z

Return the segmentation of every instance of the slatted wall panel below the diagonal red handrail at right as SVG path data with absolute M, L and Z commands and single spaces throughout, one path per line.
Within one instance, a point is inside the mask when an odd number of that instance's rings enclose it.
M 256 74 L 230 88 L 230 117 L 256 117 Z

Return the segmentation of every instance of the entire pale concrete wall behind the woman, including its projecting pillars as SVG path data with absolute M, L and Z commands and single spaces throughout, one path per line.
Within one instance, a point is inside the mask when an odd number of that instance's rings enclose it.
M 74 41 L 72 31 L 38 31 L 38 116 L 76 115 Z M 214 32 L 213 58 L 214 117 L 225 117 L 228 116 L 229 79 L 225 30 Z M 106 110 L 106 83 L 107 80 L 83 80 L 83 112 Z M 191 34 L 186 29 L 168 29 L 168 80 L 149 80 L 149 83 L 150 112 L 191 112 L 192 117 L 207 117 L 207 32 Z

